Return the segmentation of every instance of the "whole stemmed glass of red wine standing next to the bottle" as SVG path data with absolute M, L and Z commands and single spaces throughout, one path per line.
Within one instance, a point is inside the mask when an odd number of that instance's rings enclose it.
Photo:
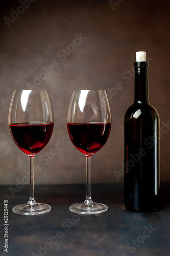
M 106 143 L 111 114 L 106 91 L 74 91 L 69 104 L 67 129 L 71 142 L 86 157 L 86 200 L 69 207 L 77 214 L 99 214 L 108 207 L 91 199 L 90 160 Z

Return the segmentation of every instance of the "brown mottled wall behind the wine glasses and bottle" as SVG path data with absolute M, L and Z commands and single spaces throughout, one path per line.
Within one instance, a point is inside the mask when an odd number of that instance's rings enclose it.
M 123 122 L 134 100 L 136 51 L 147 52 L 150 101 L 161 126 L 169 123 L 169 8 L 168 0 L 1 1 L 1 184 L 28 181 L 29 159 L 12 141 L 8 110 L 13 91 L 31 87 L 50 92 L 55 113 L 52 138 L 35 157 L 41 168 L 35 183 L 85 183 L 85 157 L 71 144 L 66 129 L 71 93 L 80 89 L 108 90 L 112 113 L 109 140 L 92 157 L 92 182 L 123 182 L 114 171 L 120 172 L 124 160 Z M 70 44 L 75 34 L 83 39 L 74 49 Z M 42 73 L 54 60 L 58 67 Z M 117 82 L 122 90 L 116 92 Z M 168 129 L 160 140 L 162 181 L 170 181 Z M 62 149 L 54 156 L 52 148 L 60 140 Z

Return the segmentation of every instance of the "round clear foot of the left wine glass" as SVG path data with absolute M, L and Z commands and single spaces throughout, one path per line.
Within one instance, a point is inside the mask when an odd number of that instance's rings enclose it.
M 35 204 L 19 204 L 16 205 L 12 211 L 15 214 L 20 215 L 38 215 L 46 214 L 46 212 L 51 211 L 52 207 L 47 204 L 35 203 Z

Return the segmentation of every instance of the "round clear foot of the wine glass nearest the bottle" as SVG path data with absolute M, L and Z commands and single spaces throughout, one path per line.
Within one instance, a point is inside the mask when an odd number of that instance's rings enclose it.
M 69 210 L 75 212 L 76 214 L 101 214 L 108 210 L 105 204 L 101 203 L 77 203 L 69 207 Z

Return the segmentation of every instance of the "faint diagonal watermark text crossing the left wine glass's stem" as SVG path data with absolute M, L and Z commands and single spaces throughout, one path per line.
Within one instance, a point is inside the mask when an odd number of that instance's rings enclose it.
M 52 160 L 58 154 L 58 151 L 61 151 L 67 143 L 68 143 L 68 141 L 65 140 L 64 137 L 62 139 L 57 138 L 55 147 L 52 147 L 49 152 L 45 152 L 45 153 L 41 154 L 39 157 L 39 161 L 43 162 L 43 165 L 47 165 L 49 160 Z M 34 176 L 36 173 L 41 172 L 41 170 L 42 170 L 42 168 L 38 164 L 35 164 L 34 165 Z M 25 173 L 25 175 L 21 178 L 21 180 L 18 178 L 16 179 L 15 186 L 9 187 L 9 191 L 13 198 L 15 197 L 16 193 L 19 193 L 25 187 L 25 185 L 28 185 L 30 182 L 30 171 L 25 170 L 24 173 Z

